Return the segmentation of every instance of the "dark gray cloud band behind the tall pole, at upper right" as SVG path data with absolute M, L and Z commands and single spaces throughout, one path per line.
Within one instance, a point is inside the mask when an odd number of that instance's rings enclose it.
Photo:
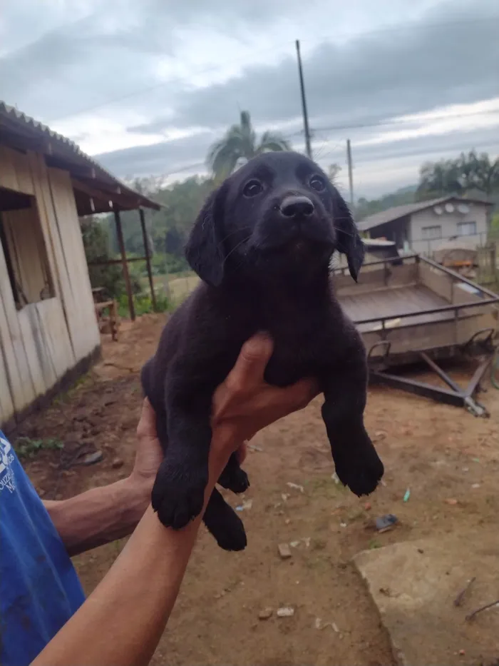
M 317 46 L 304 59 L 312 124 L 414 113 L 497 95 L 499 8 L 475 1 L 451 20 L 453 6 L 438 8 L 418 24 Z M 238 108 L 250 109 L 259 124 L 292 120 L 301 113 L 296 60 L 247 68 L 224 84 L 180 94 L 175 107 L 165 126 L 223 128 Z M 160 126 L 157 118 L 150 130 Z

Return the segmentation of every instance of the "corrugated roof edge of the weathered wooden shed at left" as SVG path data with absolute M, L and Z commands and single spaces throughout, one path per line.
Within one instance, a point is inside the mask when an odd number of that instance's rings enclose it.
M 34 141 L 46 139 L 47 145 L 46 149 L 43 150 L 43 153 L 48 158 L 59 157 L 68 163 L 72 163 L 76 167 L 83 166 L 90 168 L 95 172 L 95 178 L 92 178 L 92 187 L 98 189 L 99 181 L 102 185 L 114 186 L 118 190 L 117 194 L 119 195 L 120 201 L 130 198 L 130 208 L 145 206 L 147 208 L 155 208 L 156 210 L 159 210 L 160 205 L 158 203 L 125 185 L 125 183 L 113 176 L 112 173 L 103 168 L 103 166 L 96 162 L 96 160 L 88 156 L 86 153 L 83 153 L 81 148 L 74 143 L 74 141 L 51 130 L 51 128 L 40 121 L 31 118 L 31 116 L 27 116 L 26 113 L 22 113 L 22 111 L 14 108 L 14 106 L 9 106 L 9 104 L 6 104 L 1 100 L 0 128 L 7 133 L 10 132 L 12 134 L 15 134 L 17 131 L 20 136 L 28 140 L 29 138 Z M 40 147 L 36 146 L 34 147 L 34 150 L 40 151 Z M 114 201 L 113 193 L 104 190 L 103 195 L 106 195 L 110 201 Z

